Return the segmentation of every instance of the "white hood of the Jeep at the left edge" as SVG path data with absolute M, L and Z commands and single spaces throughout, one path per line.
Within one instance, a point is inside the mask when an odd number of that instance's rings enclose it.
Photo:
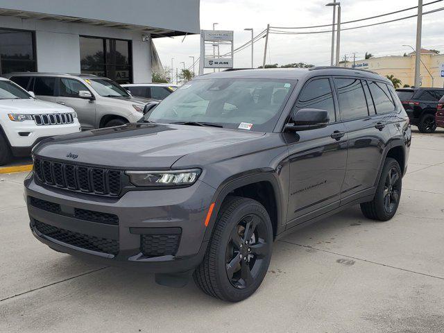
M 31 114 L 74 112 L 67 106 L 40 99 L 0 99 L 0 111 Z

